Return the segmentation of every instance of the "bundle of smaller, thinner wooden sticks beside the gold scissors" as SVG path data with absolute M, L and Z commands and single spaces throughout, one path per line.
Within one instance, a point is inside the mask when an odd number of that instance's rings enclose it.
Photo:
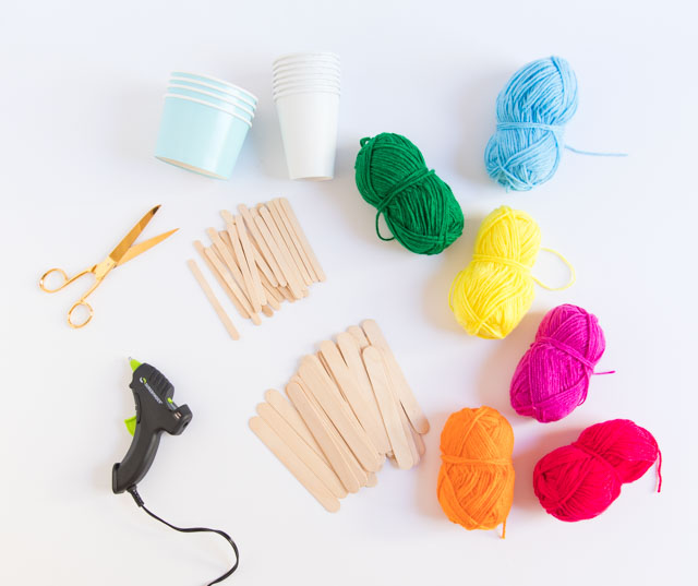
M 225 230 L 208 228 L 212 244 L 194 248 L 232 301 L 240 315 L 260 325 L 285 300 L 306 297 L 308 287 L 325 280 L 325 273 L 286 198 L 248 208 L 239 215 L 222 211 Z M 240 335 L 193 260 L 189 267 L 233 339 Z

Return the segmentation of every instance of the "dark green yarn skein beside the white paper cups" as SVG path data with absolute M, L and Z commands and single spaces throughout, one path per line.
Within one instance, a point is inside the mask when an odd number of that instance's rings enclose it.
M 418 254 L 438 254 L 462 235 L 462 210 L 450 188 L 426 168 L 417 146 L 400 134 L 361 139 L 357 188 L 376 210 L 375 232 Z M 392 238 L 381 235 L 385 218 Z

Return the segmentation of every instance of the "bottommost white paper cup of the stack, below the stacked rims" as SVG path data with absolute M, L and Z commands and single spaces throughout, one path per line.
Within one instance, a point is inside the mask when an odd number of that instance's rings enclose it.
M 339 94 L 288 93 L 276 98 L 288 175 L 325 181 L 335 175 Z

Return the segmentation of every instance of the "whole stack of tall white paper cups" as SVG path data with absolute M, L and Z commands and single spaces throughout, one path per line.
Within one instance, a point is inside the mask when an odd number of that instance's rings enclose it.
M 330 52 L 286 55 L 274 61 L 272 72 L 289 177 L 332 179 L 339 115 L 339 57 Z

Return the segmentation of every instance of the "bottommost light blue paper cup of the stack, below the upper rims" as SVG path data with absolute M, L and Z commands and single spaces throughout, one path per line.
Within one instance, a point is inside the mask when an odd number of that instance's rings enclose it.
M 229 179 L 251 122 L 197 98 L 168 94 L 155 156 L 216 179 Z

